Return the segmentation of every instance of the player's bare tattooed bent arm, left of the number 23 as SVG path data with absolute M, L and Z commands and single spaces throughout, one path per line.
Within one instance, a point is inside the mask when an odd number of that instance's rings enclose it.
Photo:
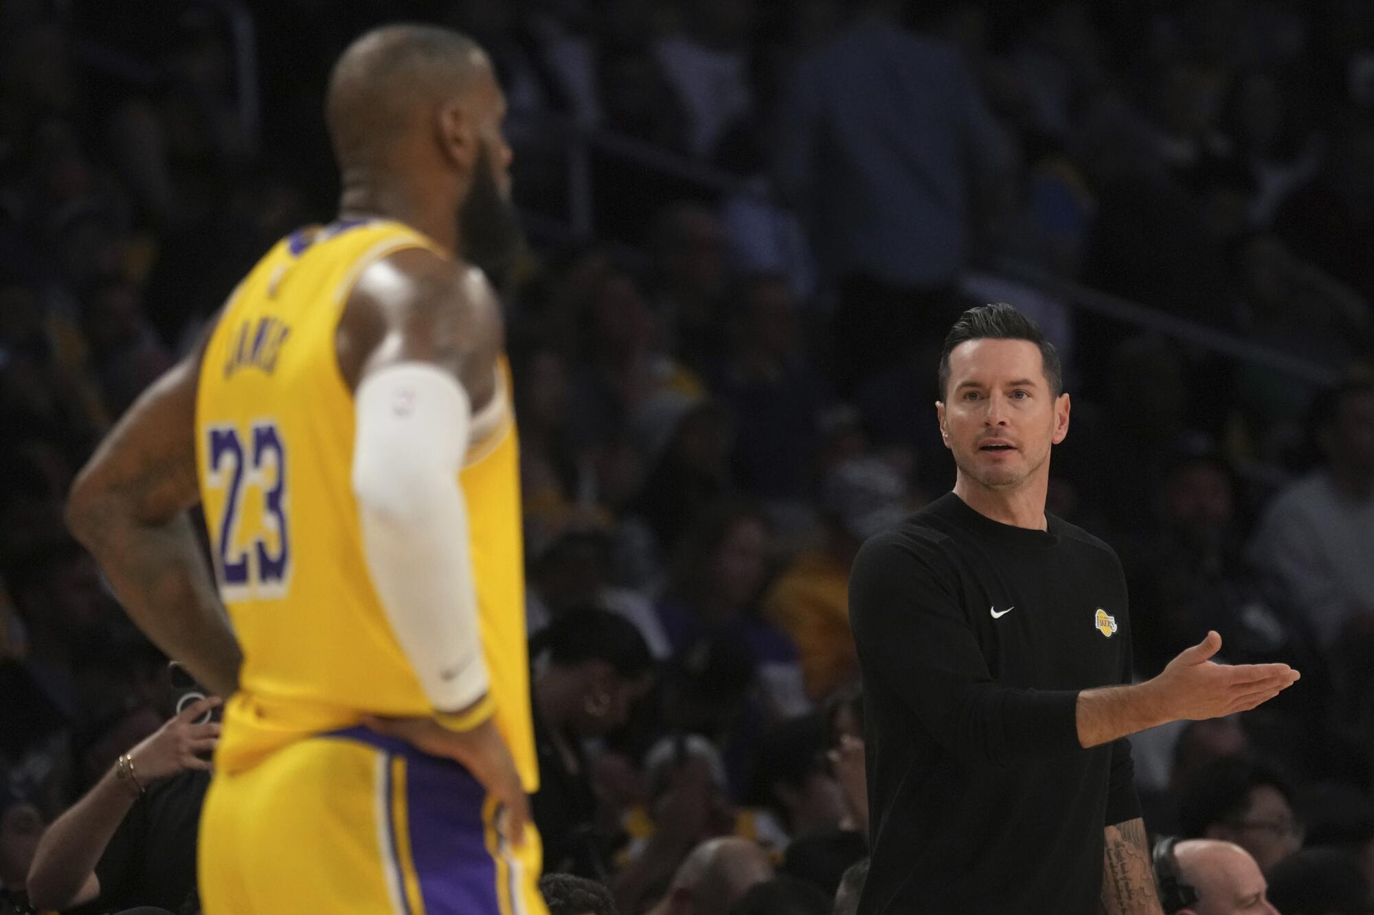
M 243 655 L 187 514 L 195 473 L 195 390 L 203 345 L 148 387 L 81 470 L 67 526 L 100 563 L 133 622 L 218 695 Z

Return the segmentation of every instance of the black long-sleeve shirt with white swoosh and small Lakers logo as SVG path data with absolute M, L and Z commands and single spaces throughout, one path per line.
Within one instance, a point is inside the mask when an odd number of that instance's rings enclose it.
M 1131 745 L 1084 750 L 1080 690 L 1127 683 L 1121 563 L 1047 515 L 947 493 L 868 540 L 849 578 L 872 861 L 860 915 L 1091 915 L 1103 827 L 1140 815 Z

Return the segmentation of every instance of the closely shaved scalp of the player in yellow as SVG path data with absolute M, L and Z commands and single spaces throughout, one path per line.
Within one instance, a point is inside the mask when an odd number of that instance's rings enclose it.
M 374 163 L 423 131 L 438 109 L 496 89 L 481 45 L 449 29 L 390 25 L 344 52 L 330 76 L 324 120 L 339 168 Z

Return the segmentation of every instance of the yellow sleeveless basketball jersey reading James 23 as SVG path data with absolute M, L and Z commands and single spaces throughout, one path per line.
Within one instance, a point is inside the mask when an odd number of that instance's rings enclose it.
M 363 269 L 411 247 L 442 256 L 419 232 L 385 220 L 295 232 L 235 290 L 205 352 L 201 497 L 245 658 L 216 757 L 225 771 L 364 714 L 431 712 L 363 556 L 350 484 L 353 396 L 334 343 Z M 508 398 L 504 359 L 502 372 Z M 506 415 L 469 451 L 459 482 L 496 725 L 533 791 L 518 444 Z

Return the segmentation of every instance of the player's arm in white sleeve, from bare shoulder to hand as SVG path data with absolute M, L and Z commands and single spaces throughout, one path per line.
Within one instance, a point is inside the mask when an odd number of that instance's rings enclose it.
M 352 484 L 367 569 L 434 709 L 370 724 L 464 764 L 504 805 L 518 844 L 528 798 L 492 721 L 458 482 L 473 415 L 497 389 L 495 293 L 478 271 L 403 251 L 363 273 L 337 343 L 354 387 Z

